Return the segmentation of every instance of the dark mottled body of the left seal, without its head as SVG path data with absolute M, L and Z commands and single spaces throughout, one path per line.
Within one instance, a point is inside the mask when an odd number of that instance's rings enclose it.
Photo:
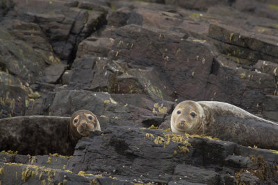
M 0 120 L 0 150 L 22 155 L 72 155 L 74 143 L 67 134 L 68 117 L 18 116 Z

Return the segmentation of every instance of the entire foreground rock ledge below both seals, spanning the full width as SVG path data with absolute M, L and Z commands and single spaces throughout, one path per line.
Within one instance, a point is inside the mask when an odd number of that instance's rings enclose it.
M 72 157 L 0 153 L 3 184 L 277 184 L 274 150 L 208 136 L 110 125 Z

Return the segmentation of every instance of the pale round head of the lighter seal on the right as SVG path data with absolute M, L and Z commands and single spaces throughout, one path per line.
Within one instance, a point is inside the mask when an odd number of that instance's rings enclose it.
M 174 108 L 171 116 L 171 130 L 179 134 L 202 132 L 204 110 L 194 101 L 183 101 Z

